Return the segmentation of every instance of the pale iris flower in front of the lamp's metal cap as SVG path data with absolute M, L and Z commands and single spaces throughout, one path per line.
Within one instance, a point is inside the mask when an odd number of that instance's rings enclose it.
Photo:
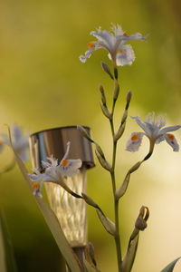
M 33 185 L 34 195 L 41 196 L 41 189 L 43 182 L 53 182 L 56 184 L 64 186 L 64 182 L 62 180 L 63 177 L 72 177 L 79 172 L 81 168 L 81 160 L 68 160 L 67 157 L 69 155 L 71 142 L 67 142 L 67 150 L 60 162 L 58 160 L 50 157 L 47 158 L 47 161 L 42 161 L 43 164 L 43 172 L 40 172 L 37 169 L 33 169 L 33 174 L 29 174 L 31 180 L 35 181 L 35 185 Z M 40 181 L 38 181 L 40 180 Z M 38 181 L 38 182 L 37 182 Z M 38 183 L 40 182 L 40 186 Z

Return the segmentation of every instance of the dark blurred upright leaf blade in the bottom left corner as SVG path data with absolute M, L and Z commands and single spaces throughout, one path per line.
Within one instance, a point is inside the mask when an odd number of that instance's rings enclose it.
M 0 211 L 0 271 L 17 271 L 14 259 L 14 249 L 11 243 L 3 210 Z

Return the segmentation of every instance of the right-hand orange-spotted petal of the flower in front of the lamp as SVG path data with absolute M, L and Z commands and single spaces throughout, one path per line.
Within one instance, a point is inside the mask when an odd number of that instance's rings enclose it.
M 79 172 L 81 168 L 82 161 L 78 160 L 62 160 L 60 163 L 60 170 L 62 172 L 62 176 L 72 177 Z

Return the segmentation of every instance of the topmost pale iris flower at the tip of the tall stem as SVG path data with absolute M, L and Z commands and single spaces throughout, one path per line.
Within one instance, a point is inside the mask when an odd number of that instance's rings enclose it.
M 108 51 L 108 56 L 115 65 L 131 65 L 135 60 L 135 54 L 131 45 L 125 45 L 125 43 L 131 40 L 146 40 L 146 37 L 139 33 L 132 35 L 126 34 L 122 31 L 119 24 L 117 26 L 112 24 L 111 32 L 99 28 L 97 31 L 90 32 L 90 35 L 96 37 L 98 41 L 88 44 L 88 51 L 86 51 L 84 56 L 80 56 L 82 63 L 85 63 L 87 59 L 90 58 L 92 52 L 103 48 Z

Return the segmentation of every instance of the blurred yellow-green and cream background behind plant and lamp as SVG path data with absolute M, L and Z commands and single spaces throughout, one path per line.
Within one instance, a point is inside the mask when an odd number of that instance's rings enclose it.
M 178 0 L 6 0 L 0 8 L 0 116 L 31 132 L 64 125 L 88 125 L 111 157 L 110 131 L 100 112 L 99 84 L 111 97 L 111 81 L 100 61 L 109 62 L 98 51 L 83 64 L 79 55 L 92 41 L 90 31 L 98 26 L 121 24 L 134 34 L 149 34 L 148 42 L 132 42 L 137 59 L 119 69 L 121 96 L 117 123 L 126 93 L 134 94 L 130 115 L 145 118 L 147 112 L 167 113 L 168 125 L 181 122 L 181 2 Z M 129 133 L 138 131 L 129 119 L 119 144 L 118 184 L 126 171 L 148 151 L 145 140 L 138 153 L 124 151 Z M 181 132 L 176 131 L 181 143 Z M 1 154 L 1 167 L 12 160 Z M 141 205 L 150 209 L 148 228 L 141 233 L 133 272 L 160 271 L 181 255 L 181 153 L 166 143 L 132 175 L 127 195 L 120 201 L 123 250 Z M 27 165 L 31 170 L 31 164 Z M 63 271 L 61 256 L 40 211 L 17 168 L 0 177 L 0 205 L 14 245 L 18 271 Z M 88 173 L 89 195 L 110 219 L 113 206 L 110 177 L 97 167 Z M 116 271 L 114 242 L 101 227 L 93 209 L 89 211 L 89 238 L 95 245 L 101 271 Z M 175 271 L 180 271 L 178 263 Z

